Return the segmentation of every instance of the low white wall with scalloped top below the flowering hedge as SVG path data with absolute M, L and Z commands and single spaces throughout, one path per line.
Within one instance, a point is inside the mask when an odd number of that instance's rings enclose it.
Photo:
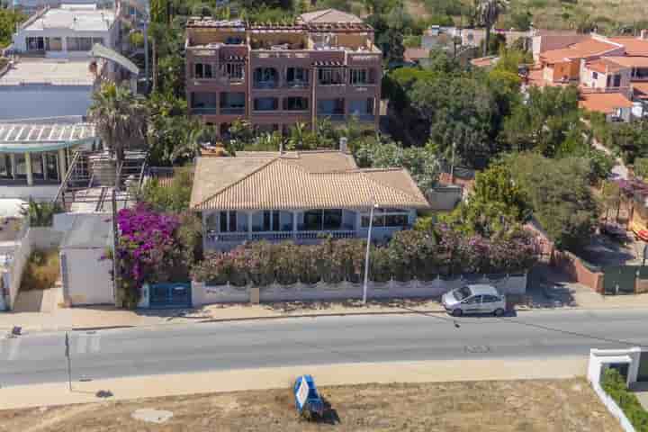
M 464 275 L 453 279 L 438 277 L 432 281 L 369 282 L 367 297 L 371 299 L 440 297 L 464 284 L 491 284 L 503 294 L 527 292 L 527 274 L 519 275 Z M 252 285 L 208 285 L 193 282 L 193 306 L 211 303 L 251 302 Z M 260 302 L 334 301 L 360 299 L 363 285 L 342 282 L 339 284 L 270 284 L 259 288 Z

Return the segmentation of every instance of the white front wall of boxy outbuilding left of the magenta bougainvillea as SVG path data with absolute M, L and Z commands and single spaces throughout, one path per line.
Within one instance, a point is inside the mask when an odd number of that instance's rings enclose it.
M 61 250 L 63 295 L 70 305 L 114 304 L 112 261 L 100 258 L 105 248 Z

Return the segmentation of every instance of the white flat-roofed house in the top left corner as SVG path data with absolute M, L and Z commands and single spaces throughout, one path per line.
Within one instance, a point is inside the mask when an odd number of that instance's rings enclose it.
M 95 43 L 113 47 L 119 36 L 118 12 L 96 4 L 63 4 L 31 16 L 14 34 L 17 54 L 48 58 L 87 58 Z

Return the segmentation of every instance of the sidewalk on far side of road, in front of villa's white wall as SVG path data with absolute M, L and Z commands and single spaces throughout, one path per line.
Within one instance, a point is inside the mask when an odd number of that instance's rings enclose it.
M 551 290 L 531 284 L 520 313 L 556 309 L 648 310 L 648 294 L 601 296 L 580 284 L 560 283 Z M 549 292 L 547 292 L 549 291 Z M 113 307 L 58 308 L 43 312 L 0 312 L 0 335 L 19 326 L 23 333 L 74 329 L 146 327 L 220 320 L 259 320 L 290 317 L 446 313 L 435 300 L 347 302 L 284 302 L 272 304 L 212 304 L 187 310 L 124 311 Z

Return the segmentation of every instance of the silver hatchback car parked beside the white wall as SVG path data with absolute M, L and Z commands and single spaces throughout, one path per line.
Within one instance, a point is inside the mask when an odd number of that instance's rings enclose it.
M 455 317 L 464 313 L 492 313 L 496 317 L 504 315 L 506 299 L 492 285 L 464 285 L 442 297 L 446 311 Z

